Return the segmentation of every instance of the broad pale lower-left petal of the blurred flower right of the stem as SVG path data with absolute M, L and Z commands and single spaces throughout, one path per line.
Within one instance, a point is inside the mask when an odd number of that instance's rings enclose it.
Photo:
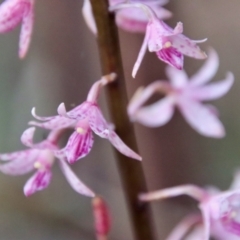
M 166 124 L 174 113 L 174 101 L 165 97 L 147 107 L 136 111 L 132 119 L 147 127 L 159 127 Z

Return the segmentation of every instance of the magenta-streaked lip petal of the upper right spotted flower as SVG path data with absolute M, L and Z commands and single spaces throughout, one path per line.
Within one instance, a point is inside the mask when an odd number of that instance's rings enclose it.
M 163 48 L 156 52 L 158 58 L 179 70 L 183 68 L 183 55 L 176 48 Z

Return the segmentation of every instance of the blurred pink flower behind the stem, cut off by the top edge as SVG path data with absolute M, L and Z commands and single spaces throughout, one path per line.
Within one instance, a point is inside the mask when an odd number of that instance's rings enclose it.
M 124 2 L 126 1 L 109 0 L 109 5 L 114 6 Z M 168 10 L 162 7 L 163 5 L 168 3 L 168 0 L 158 0 L 158 1 L 132 0 L 131 2 L 144 3 L 150 6 L 155 11 L 159 19 L 167 19 L 172 16 L 171 12 L 169 12 Z M 93 14 L 92 14 L 91 3 L 89 0 L 84 0 L 82 13 L 90 30 L 94 34 L 97 34 L 97 28 L 96 28 Z M 118 27 L 120 27 L 125 31 L 145 33 L 147 23 L 148 23 L 148 17 L 139 8 L 122 9 L 122 10 L 119 10 L 116 14 L 116 24 L 118 25 Z

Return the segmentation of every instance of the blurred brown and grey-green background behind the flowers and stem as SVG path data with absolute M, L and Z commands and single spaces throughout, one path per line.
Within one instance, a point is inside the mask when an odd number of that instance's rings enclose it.
M 23 61 L 17 58 L 19 29 L 0 36 L 1 152 L 24 149 L 19 138 L 32 119 L 33 106 L 40 115 L 55 114 L 61 102 L 70 109 L 84 101 L 91 84 L 100 78 L 95 38 L 83 22 L 81 6 L 82 1 L 77 0 L 36 0 L 32 44 Z M 166 7 L 174 13 L 168 21 L 172 27 L 182 21 L 187 36 L 207 37 L 202 48 L 213 46 L 217 50 L 220 68 L 214 79 L 223 79 L 227 71 L 232 71 L 236 81 L 226 96 L 214 102 L 226 127 L 227 135 L 222 140 L 198 135 L 178 112 L 161 128 L 136 124 L 148 186 L 155 190 L 195 183 L 225 189 L 240 165 L 240 2 L 171 0 Z M 131 69 L 143 36 L 120 30 L 120 38 L 129 96 L 138 86 L 165 78 L 165 65 L 148 53 L 133 80 Z M 185 68 L 191 75 L 202 63 L 186 58 Z M 108 116 L 103 95 L 100 104 Z M 91 153 L 73 169 L 107 199 L 113 219 L 110 239 L 132 240 L 110 144 L 95 137 Z M 1 240 L 94 239 L 90 201 L 70 188 L 57 164 L 49 188 L 26 198 L 22 188 L 29 176 L 0 175 Z M 154 203 L 159 239 L 164 239 L 181 217 L 193 209 L 196 203 L 184 197 Z

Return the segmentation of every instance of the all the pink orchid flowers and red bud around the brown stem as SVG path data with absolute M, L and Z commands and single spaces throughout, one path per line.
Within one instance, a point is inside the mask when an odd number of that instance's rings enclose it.
M 0 32 L 4 33 L 21 23 L 19 57 L 23 58 L 29 48 L 33 21 L 34 0 L 6 0 L 0 5 Z M 157 80 L 147 87 L 140 87 L 129 102 L 127 111 L 131 121 L 148 127 L 159 127 L 166 124 L 174 114 L 175 106 L 185 120 L 198 133 L 213 138 L 225 136 L 224 126 L 219 120 L 217 109 L 203 101 L 215 100 L 225 95 L 234 82 L 232 73 L 225 79 L 207 84 L 215 75 L 219 59 L 215 50 L 210 49 L 207 55 L 199 48 L 198 43 L 182 34 L 183 24 L 179 22 L 174 29 L 163 20 L 172 13 L 163 8 L 168 0 L 109 0 L 109 11 L 116 12 L 116 24 L 127 31 L 145 33 L 144 41 L 132 76 L 135 77 L 146 50 L 156 52 L 158 59 L 168 64 L 166 75 L 169 81 Z M 84 0 L 83 16 L 87 25 L 97 35 L 97 28 L 92 14 L 91 3 Z M 184 55 L 205 59 L 203 67 L 192 77 L 183 70 Z M 58 115 L 40 117 L 35 108 L 32 115 L 38 121 L 30 121 L 32 126 L 24 131 L 21 141 L 27 149 L 0 154 L 0 171 L 9 175 L 22 175 L 35 170 L 34 175 L 24 186 L 26 196 L 46 188 L 51 180 L 51 167 L 57 159 L 60 168 L 71 187 L 78 193 L 95 197 L 93 201 L 99 234 L 107 235 L 110 220 L 103 200 L 96 197 L 94 191 L 86 186 L 71 170 L 69 164 L 89 154 L 93 146 L 93 133 L 108 139 L 122 154 L 141 160 L 141 156 L 131 150 L 114 131 L 114 124 L 108 123 L 97 103 L 101 89 L 116 79 L 116 74 L 103 76 L 91 87 L 85 102 L 67 111 L 61 103 Z M 145 106 L 155 94 L 164 95 L 155 103 Z M 35 127 L 49 130 L 48 137 L 33 143 Z M 66 129 L 72 129 L 66 146 L 60 148 L 59 139 Z M 210 236 L 218 240 L 240 239 L 240 173 L 228 191 L 221 192 L 216 188 L 200 188 L 195 185 L 184 185 L 139 195 L 140 201 L 152 201 L 189 195 L 199 201 L 200 214 L 187 216 L 172 231 L 167 240 L 208 240 Z M 100 209 L 100 210 L 99 210 Z M 99 217 L 100 216 L 100 217 Z

